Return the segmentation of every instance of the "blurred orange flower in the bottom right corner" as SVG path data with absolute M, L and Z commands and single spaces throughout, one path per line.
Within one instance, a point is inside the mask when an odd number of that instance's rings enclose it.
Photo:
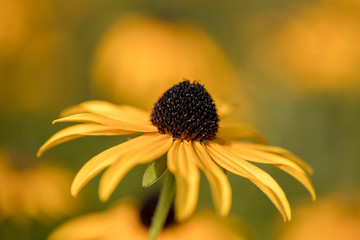
M 359 195 L 319 199 L 294 210 L 295 219 L 283 226 L 279 240 L 357 240 L 360 236 Z

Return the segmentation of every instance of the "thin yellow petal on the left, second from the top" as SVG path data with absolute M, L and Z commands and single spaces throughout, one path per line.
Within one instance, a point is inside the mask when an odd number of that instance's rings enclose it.
M 104 117 L 102 115 L 94 113 L 79 113 L 70 115 L 67 117 L 59 118 L 53 121 L 53 123 L 59 122 L 84 122 L 84 123 L 96 123 L 113 127 L 121 130 L 135 131 L 135 132 L 156 132 L 158 129 L 150 123 L 140 122 L 125 122 L 117 119 Z

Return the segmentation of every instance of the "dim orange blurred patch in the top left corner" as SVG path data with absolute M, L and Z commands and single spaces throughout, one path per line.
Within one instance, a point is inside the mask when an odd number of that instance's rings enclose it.
M 53 3 L 0 0 L 0 6 L 0 109 L 45 111 L 63 98 L 61 90 L 71 97 L 64 81 L 68 42 Z

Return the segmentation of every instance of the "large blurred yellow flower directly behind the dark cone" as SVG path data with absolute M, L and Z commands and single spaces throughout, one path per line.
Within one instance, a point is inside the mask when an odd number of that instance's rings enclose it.
M 217 102 L 226 100 L 245 116 L 248 103 L 237 74 L 220 47 L 194 25 L 128 14 L 99 43 L 93 86 L 112 101 L 147 110 L 164 89 L 194 79 L 216 92 Z

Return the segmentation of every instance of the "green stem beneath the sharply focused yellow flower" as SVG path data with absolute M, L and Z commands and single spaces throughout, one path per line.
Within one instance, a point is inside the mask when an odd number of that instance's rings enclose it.
M 151 221 L 149 240 L 156 240 L 159 232 L 163 228 L 173 201 L 174 193 L 174 176 L 170 172 L 167 172 L 161 189 L 160 198 L 155 209 L 155 214 Z

